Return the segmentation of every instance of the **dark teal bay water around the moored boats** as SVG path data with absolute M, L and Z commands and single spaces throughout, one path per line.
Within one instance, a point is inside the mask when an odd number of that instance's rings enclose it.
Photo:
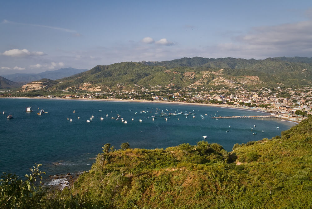
M 34 111 L 25 112 L 28 106 Z M 156 114 L 157 119 L 153 121 L 151 116 L 155 115 L 156 108 L 158 112 L 196 114 L 195 118 L 193 115 L 165 116 L 170 117 L 167 121 Z M 48 113 L 37 115 L 38 109 Z M 140 113 L 145 110 L 147 113 Z M 265 113 L 186 104 L 1 98 L 0 112 L 3 111 L 6 114 L 0 114 L 0 172 L 17 175 L 28 173 L 34 163 L 43 164 L 41 170 L 48 175 L 89 170 L 105 143 L 117 149 L 124 142 L 129 142 L 131 148 L 166 148 L 181 143 L 196 144 L 205 135 L 209 143 L 219 143 L 231 151 L 235 143 L 272 138 L 294 125 L 278 119 L 216 120 L 211 117 Z M 14 119 L 7 119 L 8 114 Z M 128 123 L 111 119 L 117 114 Z M 92 115 L 93 120 L 87 123 Z M 72 122 L 67 118 L 73 119 Z M 254 132 L 258 134 L 253 135 Z

